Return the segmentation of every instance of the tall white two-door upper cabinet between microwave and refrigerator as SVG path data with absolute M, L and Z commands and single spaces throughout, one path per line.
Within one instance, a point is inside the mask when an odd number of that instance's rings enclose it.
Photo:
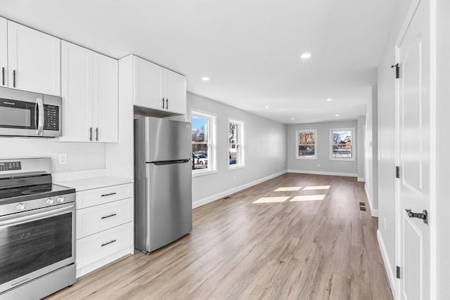
M 61 42 L 62 141 L 118 141 L 118 63 Z

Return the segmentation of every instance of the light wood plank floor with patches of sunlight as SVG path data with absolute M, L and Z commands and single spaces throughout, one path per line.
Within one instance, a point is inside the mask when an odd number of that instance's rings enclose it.
M 194 209 L 191 235 L 49 299 L 392 299 L 377 219 L 359 202 L 369 210 L 356 178 L 285 174 Z

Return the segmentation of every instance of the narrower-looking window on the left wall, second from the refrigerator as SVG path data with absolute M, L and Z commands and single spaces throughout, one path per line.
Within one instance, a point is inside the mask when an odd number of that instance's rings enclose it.
M 229 167 L 244 167 L 244 122 L 228 120 Z

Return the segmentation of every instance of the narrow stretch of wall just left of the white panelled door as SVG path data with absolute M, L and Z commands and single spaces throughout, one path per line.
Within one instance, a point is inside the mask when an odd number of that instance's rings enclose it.
M 399 1 L 378 64 L 378 235 L 388 275 L 395 274 L 395 41 L 411 1 Z M 392 287 L 393 288 L 393 287 Z

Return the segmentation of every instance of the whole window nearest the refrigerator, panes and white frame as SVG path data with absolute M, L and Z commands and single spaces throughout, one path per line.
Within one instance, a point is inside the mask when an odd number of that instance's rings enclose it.
M 215 171 L 216 117 L 204 112 L 191 112 L 192 174 Z

